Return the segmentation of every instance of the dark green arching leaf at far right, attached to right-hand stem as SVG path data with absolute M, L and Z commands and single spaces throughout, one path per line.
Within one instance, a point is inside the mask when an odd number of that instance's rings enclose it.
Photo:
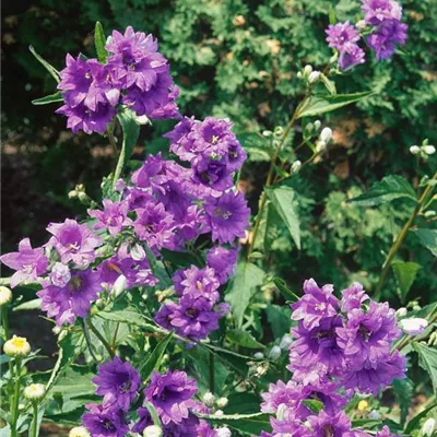
M 401 176 L 386 176 L 376 182 L 367 192 L 347 202 L 359 206 L 376 206 L 391 202 L 394 199 L 411 199 L 417 201 L 416 193 L 410 182 Z

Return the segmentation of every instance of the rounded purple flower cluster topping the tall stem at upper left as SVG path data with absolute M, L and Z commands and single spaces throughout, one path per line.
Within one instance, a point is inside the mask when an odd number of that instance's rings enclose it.
M 108 38 L 107 63 L 74 59 L 67 55 L 58 88 L 64 105 L 57 113 L 68 117 L 75 133 L 105 132 L 119 105 L 152 119 L 176 118 L 178 90 L 169 74 L 168 61 L 157 51 L 152 35 L 128 27 Z

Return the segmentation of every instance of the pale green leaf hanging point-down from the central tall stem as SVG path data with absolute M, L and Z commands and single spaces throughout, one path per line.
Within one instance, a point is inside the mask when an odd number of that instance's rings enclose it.
M 286 224 L 297 249 L 300 250 L 300 225 L 294 204 L 295 191 L 291 187 L 282 186 L 277 188 L 268 188 L 267 194 L 272 201 L 277 214 L 280 214 L 281 218 Z

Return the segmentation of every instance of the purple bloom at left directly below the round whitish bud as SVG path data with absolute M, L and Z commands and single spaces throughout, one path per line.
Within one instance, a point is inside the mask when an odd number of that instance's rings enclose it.
M 42 299 L 42 309 L 61 326 L 74 323 L 76 317 L 85 318 L 101 290 L 98 273 L 91 269 L 75 270 L 63 287 L 48 285 L 37 296 Z

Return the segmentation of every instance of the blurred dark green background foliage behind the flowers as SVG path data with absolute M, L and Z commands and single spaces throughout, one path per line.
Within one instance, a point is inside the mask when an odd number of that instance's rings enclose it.
M 364 209 L 345 201 L 385 175 L 418 185 L 436 168 L 436 157 L 418 163 L 409 147 L 425 138 L 436 144 L 437 7 L 434 0 L 403 0 L 409 42 L 392 61 L 365 66 L 338 79 L 340 93 L 374 90 L 358 105 L 322 119 L 334 143 L 322 161 L 292 180 L 303 229 L 302 250 L 275 217 L 269 222 L 268 264 L 298 288 L 304 279 L 346 286 L 357 280 L 371 290 L 386 253 L 411 205 L 401 201 Z M 330 4 L 340 21 L 359 20 L 358 0 L 15 0 L 0 5 L 0 252 L 22 235 L 43 241 L 49 221 L 84 211 L 67 193 L 84 184 L 97 196 L 101 178 L 114 166 L 104 138 L 72 135 L 52 106 L 31 101 L 54 92 L 55 83 L 28 45 L 61 69 L 66 51 L 94 56 L 93 28 L 107 33 L 132 25 L 154 34 L 180 86 L 180 109 L 188 116 L 228 117 L 249 151 L 241 188 L 253 211 L 269 166 L 264 129 L 285 126 L 302 95 L 298 68 L 323 68 Z M 305 120 L 306 122 L 307 120 Z M 138 155 L 166 147 L 162 133 L 172 123 L 143 129 Z M 300 158 L 300 157 L 299 157 Z M 305 153 L 303 155 L 305 160 Z M 424 220 L 424 218 L 421 218 Z M 435 222 L 434 222 L 435 223 Z M 433 225 L 427 225 L 430 227 Z M 437 298 L 436 258 L 409 236 L 403 261 L 424 268 L 409 298 Z M 397 284 L 383 297 L 395 304 Z M 268 292 L 268 291 L 267 291 Z

